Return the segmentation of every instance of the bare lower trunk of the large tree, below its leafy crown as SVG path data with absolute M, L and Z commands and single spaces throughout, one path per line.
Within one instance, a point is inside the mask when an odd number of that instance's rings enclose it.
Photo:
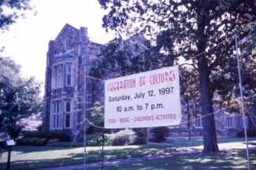
M 210 90 L 210 71 L 207 65 L 206 56 L 201 56 L 198 61 L 200 94 L 201 94 L 201 108 L 202 128 L 203 128 L 203 152 L 218 151 L 217 136 L 215 128 L 215 120 L 213 113 L 213 95 Z M 210 114 L 210 115 L 208 115 Z

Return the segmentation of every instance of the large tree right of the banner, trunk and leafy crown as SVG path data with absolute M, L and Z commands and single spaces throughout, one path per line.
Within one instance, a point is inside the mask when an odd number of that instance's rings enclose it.
M 250 23 L 256 20 L 252 14 L 254 0 L 237 1 L 232 8 L 223 8 L 216 0 L 99 0 L 108 13 L 103 17 L 103 27 L 118 34 L 143 32 L 154 39 L 159 34 L 168 40 L 160 44 L 169 60 L 183 57 L 195 64 L 199 74 L 204 152 L 218 150 L 213 113 L 213 71 L 229 64 L 233 53 L 234 34 L 246 36 Z M 239 13 L 236 10 L 239 9 Z M 250 15 L 250 17 L 246 17 Z M 229 41 L 225 41 L 229 38 Z M 221 44 L 221 45 L 218 45 Z M 213 46 L 217 45 L 213 48 Z M 159 45 L 158 45 L 159 46 Z M 194 56 L 194 57 L 192 57 Z

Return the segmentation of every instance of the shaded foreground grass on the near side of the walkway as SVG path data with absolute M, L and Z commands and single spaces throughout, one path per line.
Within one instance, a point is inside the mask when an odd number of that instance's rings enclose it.
M 246 157 L 244 150 L 229 150 L 213 154 L 187 154 L 153 161 L 129 162 L 121 165 L 104 166 L 104 170 L 247 169 Z M 250 169 L 256 169 L 256 150 L 250 151 L 250 159 Z M 88 168 L 88 170 L 98 169 L 101 168 Z

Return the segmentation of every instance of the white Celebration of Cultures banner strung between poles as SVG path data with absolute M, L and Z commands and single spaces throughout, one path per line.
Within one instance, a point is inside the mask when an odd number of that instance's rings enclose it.
M 105 81 L 105 128 L 179 125 L 178 67 Z

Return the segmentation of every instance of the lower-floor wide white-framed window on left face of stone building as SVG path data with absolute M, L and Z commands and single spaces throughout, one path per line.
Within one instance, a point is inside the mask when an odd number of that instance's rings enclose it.
M 61 114 L 62 114 L 61 100 L 57 100 L 57 101 L 52 102 L 51 114 L 52 114 L 51 127 L 52 128 L 62 128 L 62 123 L 61 123 Z

